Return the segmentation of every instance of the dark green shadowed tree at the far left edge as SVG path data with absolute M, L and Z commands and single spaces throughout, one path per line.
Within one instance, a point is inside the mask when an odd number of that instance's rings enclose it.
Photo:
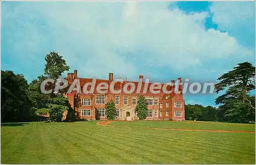
M 26 90 L 28 82 L 22 74 L 1 70 L 1 121 L 25 122 L 31 121 L 30 100 Z

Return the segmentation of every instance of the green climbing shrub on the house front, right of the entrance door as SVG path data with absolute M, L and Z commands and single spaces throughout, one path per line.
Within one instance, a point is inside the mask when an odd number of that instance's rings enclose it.
M 137 112 L 137 116 L 140 120 L 146 119 L 147 104 L 144 96 L 141 95 L 138 97 L 138 105 L 136 106 L 135 111 Z

